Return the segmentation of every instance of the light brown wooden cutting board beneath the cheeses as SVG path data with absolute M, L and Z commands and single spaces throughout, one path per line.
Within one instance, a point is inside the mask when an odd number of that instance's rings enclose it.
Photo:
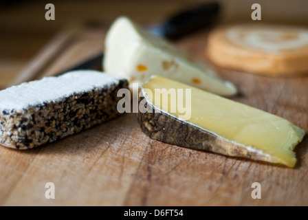
M 177 45 L 208 63 L 206 36 L 199 32 Z M 69 50 L 63 53 L 73 54 Z M 65 69 L 80 56 L 59 57 L 62 65 L 50 69 Z M 308 131 L 308 77 L 267 78 L 215 68 L 239 87 L 241 94 L 233 100 Z M 306 135 L 296 147 L 293 169 L 225 157 L 151 140 L 142 133 L 137 115 L 127 113 L 29 151 L 1 147 L 0 205 L 308 206 L 307 148 Z M 56 199 L 45 199 L 50 181 Z M 262 199 L 252 199 L 253 182 L 261 184 Z

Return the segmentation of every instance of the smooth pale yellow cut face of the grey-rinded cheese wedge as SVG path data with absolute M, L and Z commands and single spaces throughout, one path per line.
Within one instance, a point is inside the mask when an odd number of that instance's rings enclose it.
M 160 102 L 156 103 L 160 93 L 155 92 L 155 89 L 191 89 L 191 100 L 186 100 L 186 96 L 183 99 L 177 98 L 181 106 L 185 106 L 183 102 L 191 102 L 191 117 L 185 120 L 186 122 L 211 131 L 230 142 L 263 151 L 275 157 L 274 161 L 278 163 L 290 167 L 296 164 L 293 150 L 296 144 L 303 140 L 305 131 L 292 122 L 161 76 L 153 76 L 142 88 L 152 91 L 146 92 L 147 99 L 166 113 L 170 113 L 170 98 L 160 98 Z M 171 114 L 183 120 L 183 113 L 177 111 Z

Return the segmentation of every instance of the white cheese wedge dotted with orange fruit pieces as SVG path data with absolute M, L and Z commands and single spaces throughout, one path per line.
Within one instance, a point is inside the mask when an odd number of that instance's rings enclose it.
M 159 74 L 221 96 L 236 94 L 232 83 L 126 17 L 117 19 L 107 33 L 103 66 L 129 83 L 144 83 Z

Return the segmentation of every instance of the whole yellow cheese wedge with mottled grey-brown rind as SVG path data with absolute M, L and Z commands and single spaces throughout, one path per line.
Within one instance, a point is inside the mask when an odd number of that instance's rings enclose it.
M 186 96 L 189 91 L 191 96 Z M 305 131 L 292 122 L 161 76 L 144 83 L 140 94 L 145 110 L 140 108 L 138 120 L 142 131 L 155 140 L 289 167 L 296 164 L 293 150 Z M 178 108 L 185 106 L 186 114 Z

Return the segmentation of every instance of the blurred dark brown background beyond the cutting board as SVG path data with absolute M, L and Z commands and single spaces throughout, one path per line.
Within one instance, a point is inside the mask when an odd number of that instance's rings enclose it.
M 124 14 L 138 23 L 153 24 L 200 0 L 0 1 L 0 88 L 16 76 L 59 31 L 74 25 L 109 25 Z M 251 5 L 262 6 L 262 22 L 308 25 L 306 0 L 221 0 L 220 23 L 252 22 Z M 56 20 L 45 20 L 53 3 Z M 259 21 L 255 21 L 259 22 Z M 102 39 L 103 42 L 103 39 Z

